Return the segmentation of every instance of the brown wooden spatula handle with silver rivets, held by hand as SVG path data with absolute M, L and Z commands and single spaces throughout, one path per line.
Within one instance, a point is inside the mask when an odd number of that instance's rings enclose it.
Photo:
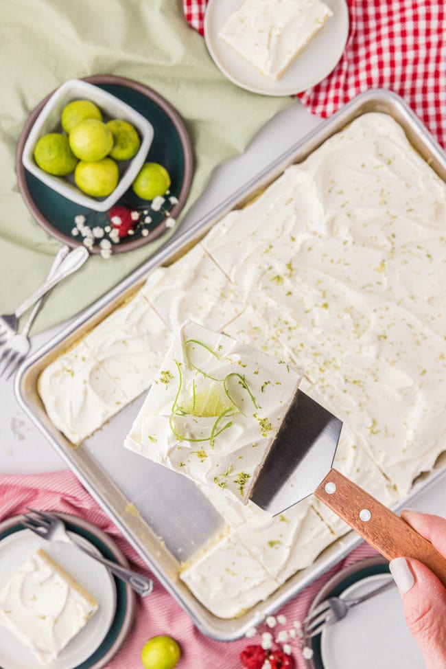
M 432 543 L 336 469 L 329 471 L 315 495 L 385 558 L 416 558 L 446 586 L 446 558 Z

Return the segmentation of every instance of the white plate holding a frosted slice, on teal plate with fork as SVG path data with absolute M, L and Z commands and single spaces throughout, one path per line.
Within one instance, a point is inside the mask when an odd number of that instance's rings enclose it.
M 76 541 L 99 553 L 82 536 L 69 532 Z M 97 600 L 99 609 L 86 626 L 62 650 L 59 657 L 46 665 L 46 669 L 73 669 L 82 664 L 99 648 L 113 622 L 116 609 L 116 587 L 113 577 L 105 567 L 73 546 L 45 541 L 31 530 L 19 530 L 0 541 L 0 585 L 6 582 L 27 558 L 43 548 L 68 574 L 84 586 Z M 0 626 L 0 666 L 4 669 L 42 669 L 30 648 L 15 635 Z

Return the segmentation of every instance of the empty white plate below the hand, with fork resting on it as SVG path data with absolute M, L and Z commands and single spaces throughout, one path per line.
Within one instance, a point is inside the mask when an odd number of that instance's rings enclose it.
M 375 574 L 353 583 L 342 599 L 361 596 L 388 582 L 390 574 Z M 406 627 L 397 588 L 355 606 L 347 617 L 322 631 L 324 669 L 424 669 L 421 652 Z

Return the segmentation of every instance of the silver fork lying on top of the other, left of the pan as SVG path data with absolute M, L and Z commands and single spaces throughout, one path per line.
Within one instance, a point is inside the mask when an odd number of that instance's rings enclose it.
M 60 263 L 58 269 L 51 279 L 47 279 L 35 293 L 25 299 L 13 314 L 3 314 L 0 316 L 0 345 L 6 343 L 11 339 L 12 335 L 17 332 L 17 322 L 21 315 L 27 311 L 30 306 L 37 302 L 40 297 L 43 297 L 51 288 L 54 288 L 62 279 L 69 276 L 77 269 L 82 267 L 86 259 L 89 257 L 89 251 L 84 247 L 78 247 L 71 251 L 64 260 Z

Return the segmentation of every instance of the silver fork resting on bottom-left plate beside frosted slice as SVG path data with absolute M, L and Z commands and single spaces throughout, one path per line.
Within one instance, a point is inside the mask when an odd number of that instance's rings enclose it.
M 137 574 L 136 571 L 131 569 L 126 569 L 121 565 L 117 565 L 110 560 L 107 560 L 102 555 L 99 556 L 91 552 L 88 548 L 77 543 L 69 534 L 65 528 L 64 521 L 60 519 L 56 514 L 44 511 L 36 511 L 30 509 L 31 513 L 24 514 L 23 519 L 20 521 L 20 524 L 24 528 L 35 532 L 38 536 L 48 539 L 49 541 L 63 541 L 64 543 L 69 543 L 73 547 L 80 549 L 82 552 L 89 555 L 93 560 L 101 563 L 110 571 L 111 574 L 114 574 L 124 582 L 128 583 L 130 587 L 137 592 L 141 597 L 150 595 L 153 589 L 153 582 L 150 578 Z

